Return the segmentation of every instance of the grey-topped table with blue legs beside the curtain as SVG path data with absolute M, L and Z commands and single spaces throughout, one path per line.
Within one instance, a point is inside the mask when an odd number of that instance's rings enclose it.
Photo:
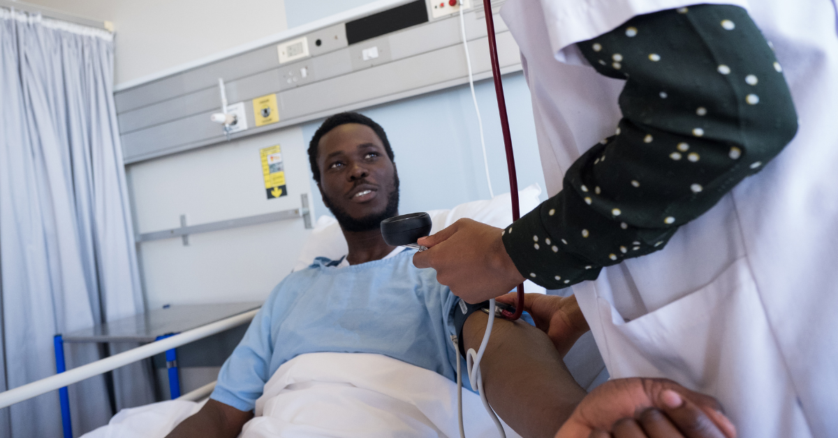
M 235 317 L 235 315 L 257 309 L 261 305 L 261 302 L 251 301 L 166 306 L 75 332 L 59 333 L 54 338 L 56 368 L 59 373 L 64 373 L 66 370 L 64 343 L 153 343 L 211 322 Z M 168 387 L 171 398 L 177 399 L 180 397 L 180 379 L 175 348 L 166 351 L 166 368 L 168 368 Z M 70 398 L 67 387 L 59 389 L 59 399 L 65 437 L 71 438 Z

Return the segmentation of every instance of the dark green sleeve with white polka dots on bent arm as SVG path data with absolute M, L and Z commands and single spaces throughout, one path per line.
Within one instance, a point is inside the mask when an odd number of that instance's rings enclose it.
M 742 8 L 641 15 L 578 46 L 598 74 L 626 81 L 623 119 L 561 193 L 504 230 L 518 270 L 548 289 L 660 250 L 797 131 L 783 69 Z

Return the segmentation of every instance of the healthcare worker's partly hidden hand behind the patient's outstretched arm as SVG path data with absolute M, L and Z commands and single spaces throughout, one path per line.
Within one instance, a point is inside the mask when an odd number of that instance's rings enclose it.
M 512 292 L 499 296 L 497 301 L 517 306 L 518 294 Z M 579 340 L 579 337 L 590 330 L 575 295 L 565 297 L 526 293 L 524 294 L 524 310 L 530 313 L 535 327 L 547 333 L 562 358 Z

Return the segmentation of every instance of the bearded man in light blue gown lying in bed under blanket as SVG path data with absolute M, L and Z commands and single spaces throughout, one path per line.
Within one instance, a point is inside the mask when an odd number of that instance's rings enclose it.
M 459 299 L 436 281 L 434 271 L 412 265 L 413 250 L 381 238 L 380 221 L 398 214 L 399 199 L 385 132 L 356 113 L 332 116 L 315 133 L 309 156 L 348 254 L 319 258 L 272 291 L 221 368 L 209 401 L 168 436 L 456 436 L 450 387 L 461 360 L 453 343 Z M 565 318 L 541 328 L 565 332 L 566 345 L 547 348 L 552 342 L 544 332 L 499 320 L 484 356 L 489 399 L 524 436 L 554 435 L 585 395 L 561 354 L 587 324 L 574 298 L 563 303 Z M 486 321 L 483 312 L 468 317 L 465 348 L 478 347 Z M 644 403 L 656 405 L 654 394 L 670 387 L 649 387 L 646 399 L 652 401 Z M 619 390 L 608 390 L 606 396 L 624 408 L 609 413 L 616 416 L 608 421 L 630 417 L 643 405 L 636 397 L 623 402 Z M 466 415 L 483 416 L 467 433 L 494 435 L 494 425 L 476 406 Z M 683 418 L 701 416 L 690 402 L 677 408 Z M 262 416 L 254 419 L 254 411 Z M 667 413 L 677 423 L 677 412 Z

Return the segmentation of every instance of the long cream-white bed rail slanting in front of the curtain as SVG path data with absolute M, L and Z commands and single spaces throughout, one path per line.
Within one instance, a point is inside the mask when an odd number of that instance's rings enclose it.
M 236 327 L 250 321 L 254 316 L 256 316 L 256 312 L 259 312 L 259 309 L 241 313 L 239 315 L 235 315 L 235 317 L 225 318 L 218 322 L 207 324 L 203 327 L 194 328 L 174 335 L 170 338 L 164 338 L 153 343 L 147 343 L 140 347 L 132 348 L 126 352 L 115 354 L 109 358 L 103 358 L 101 360 L 97 360 L 96 362 L 70 369 L 64 373 L 55 374 L 54 376 L 50 376 L 46 379 L 40 379 L 30 384 L 18 386 L 15 389 L 9 389 L 8 391 L 0 393 L 0 408 L 14 405 L 15 403 L 22 402 L 23 400 L 32 399 L 33 397 L 46 394 L 49 391 L 54 391 L 55 389 L 63 388 L 69 384 L 75 384 L 76 382 L 80 382 L 84 379 L 90 379 L 93 376 L 120 368 L 128 363 L 137 362 L 138 360 L 142 360 L 144 358 L 150 358 L 155 354 L 163 353 L 166 350 L 180 347 L 186 343 L 191 343 L 193 341 L 197 341 L 198 339 L 212 336 L 215 333 L 224 332 L 229 328 Z M 204 389 L 205 388 L 206 387 L 204 387 Z M 199 389 L 196 389 L 192 393 L 198 390 Z

